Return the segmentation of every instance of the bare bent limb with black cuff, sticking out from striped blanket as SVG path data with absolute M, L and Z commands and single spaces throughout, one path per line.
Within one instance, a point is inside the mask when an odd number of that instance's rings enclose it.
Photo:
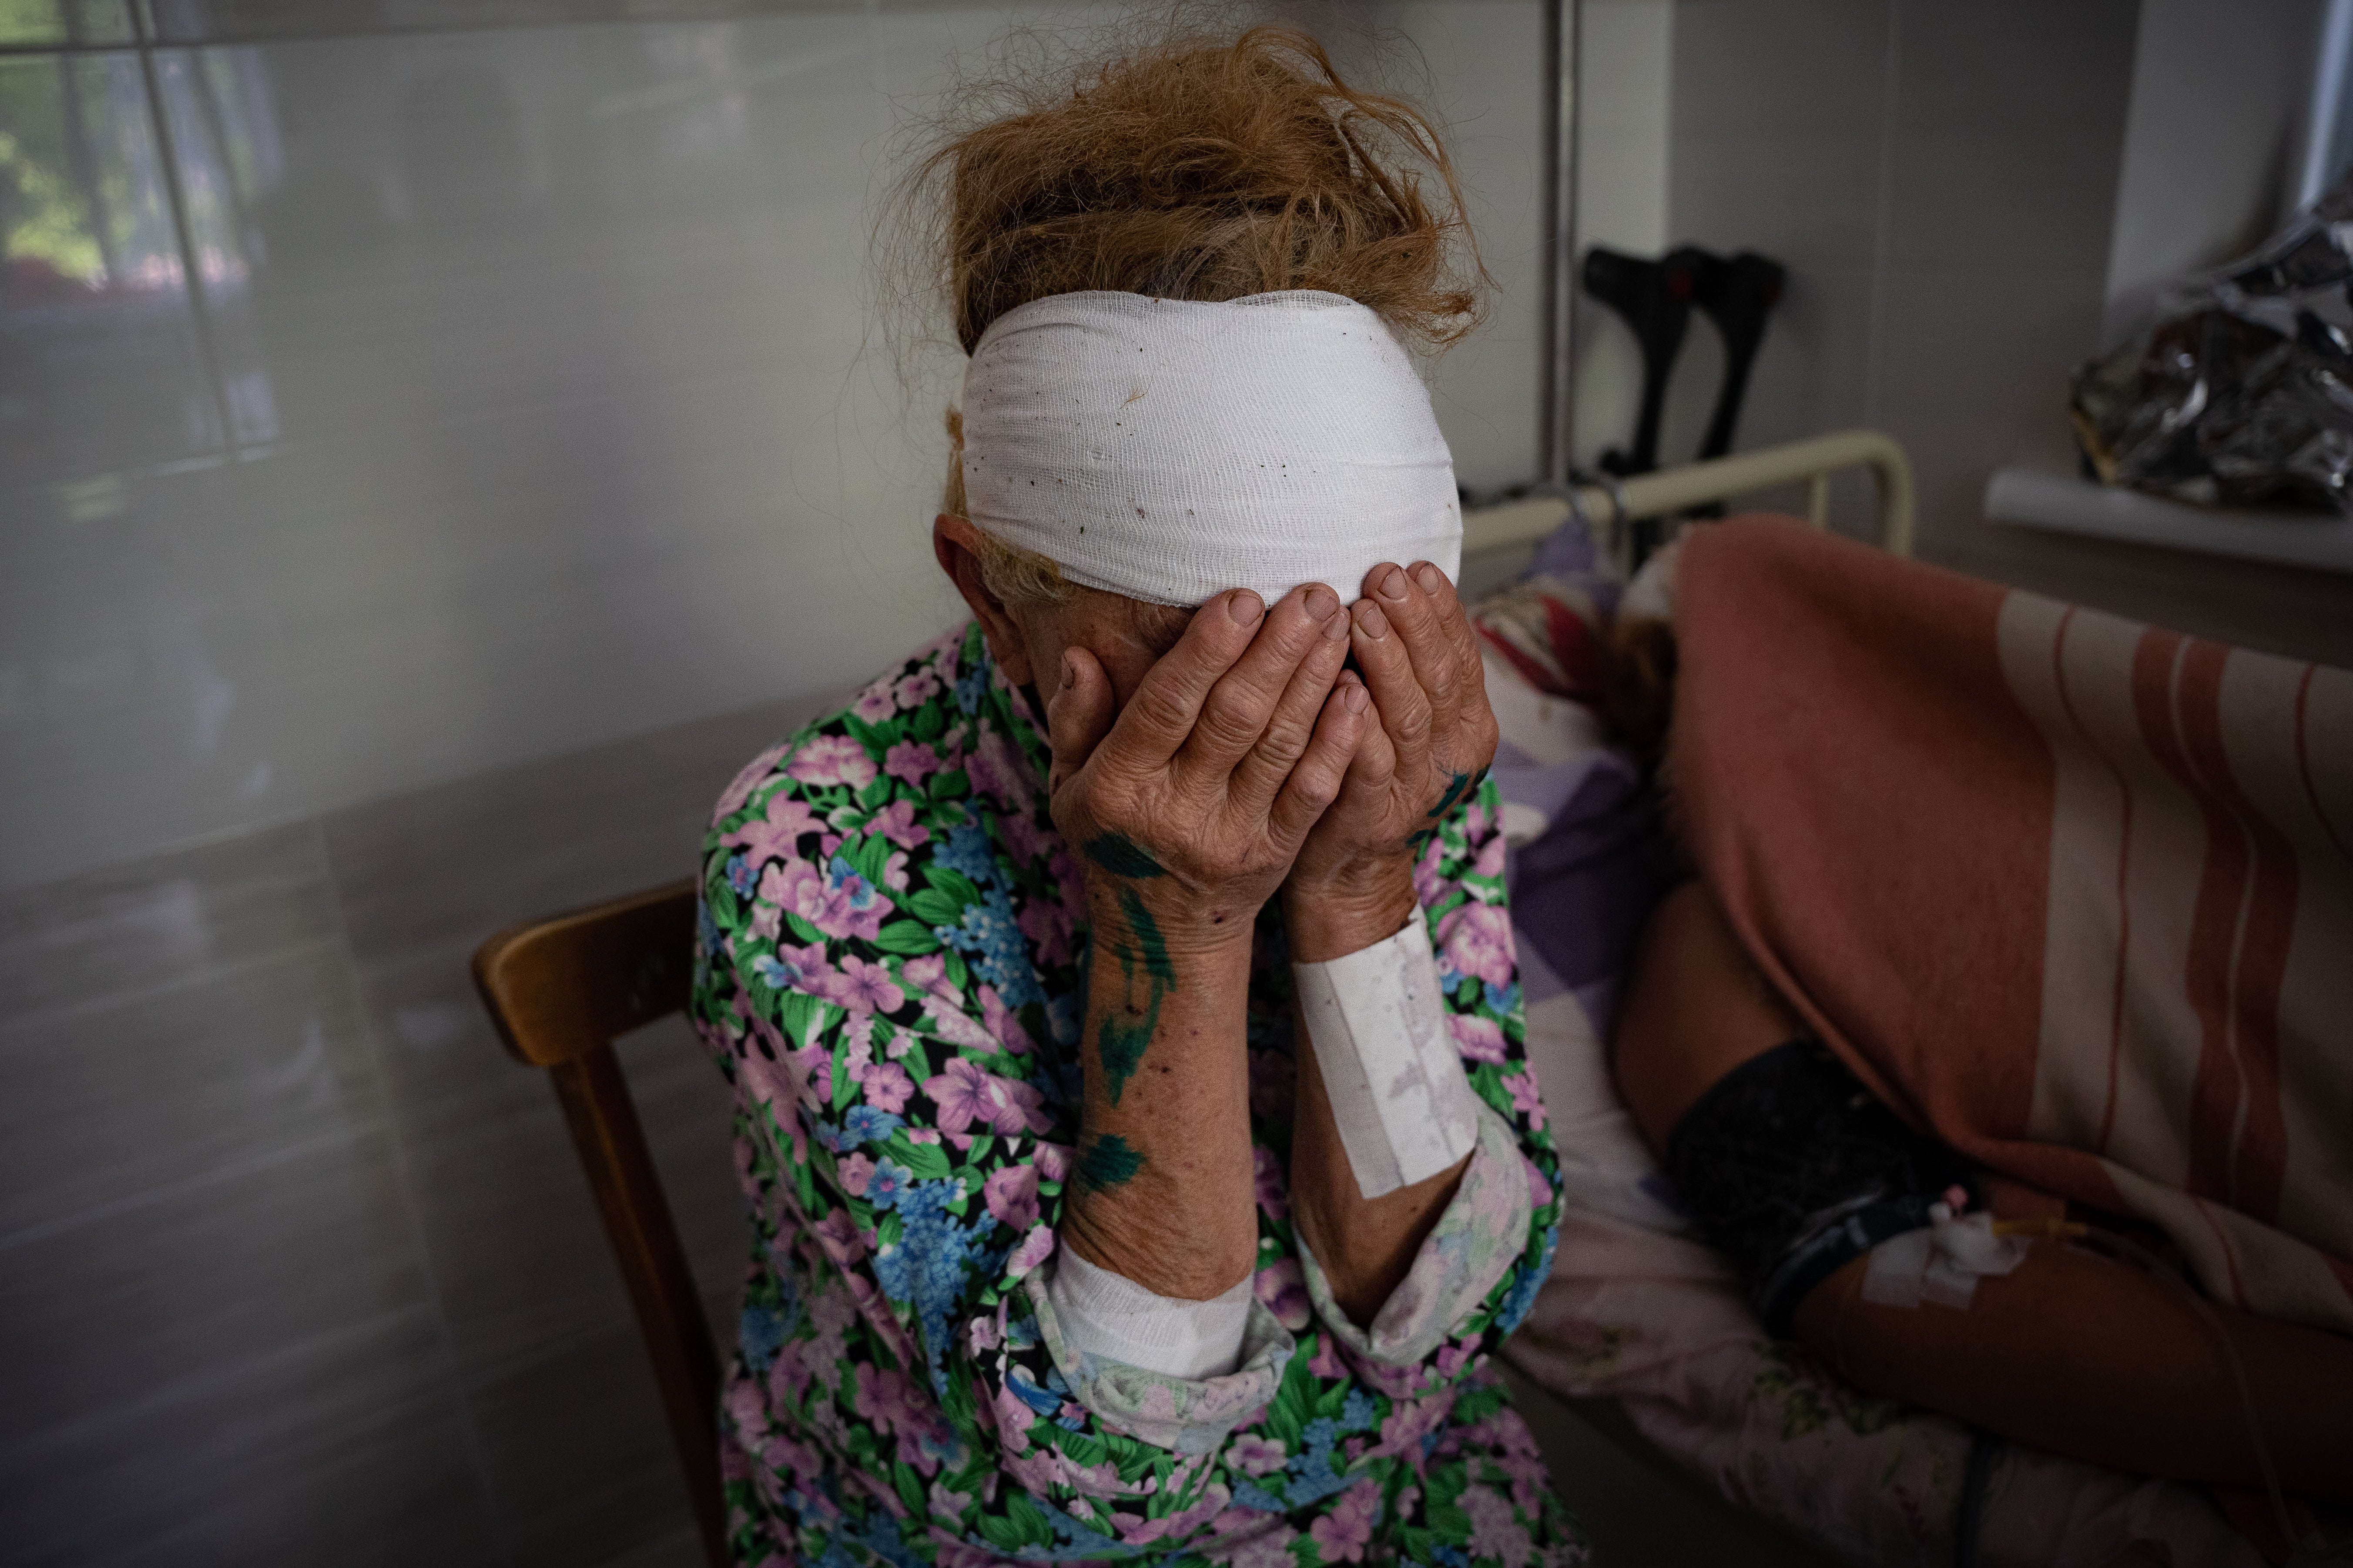
M 2259 1488 L 2219 1328 L 2280 1486 L 2353 1502 L 2353 1340 L 2198 1312 L 2179 1286 L 2057 1241 L 1979 1276 L 1962 1309 L 1866 1300 L 1873 1241 L 1927 1225 L 1932 1204 L 1972 1206 L 1977 1178 L 1812 1044 L 1697 882 L 1642 938 L 1614 1067 L 1765 1326 L 1859 1389 L 2118 1469 Z

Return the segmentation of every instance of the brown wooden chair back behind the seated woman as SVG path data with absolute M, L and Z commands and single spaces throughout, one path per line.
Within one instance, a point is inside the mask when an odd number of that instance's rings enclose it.
M 473 954 L 473 983 L 515 1060 L 546 1067 L 555 1081 L 638 1307 L 704 1547 L 715 1568 L 725 1568 L 718 1349 L 661 1175 L 645 1150 L 628 1079 L 612 1053 L 614 1037 L 685 1009 L 692 945 L 694 882 L 687 879 L 501 931 Z

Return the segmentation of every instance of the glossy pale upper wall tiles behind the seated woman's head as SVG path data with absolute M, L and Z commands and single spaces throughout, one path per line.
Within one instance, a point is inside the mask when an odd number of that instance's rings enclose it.
M 1466 482 L 1525 480 L 1539 12 L 1384 12 L 1501 282 L 1442 421 Z M 946 623 L 946 383 L 901 388 L 868 228 L 1012 14 L 0 59 L 7 129 L 101 190 L 0 306 L 0 886 L 828 691 Z

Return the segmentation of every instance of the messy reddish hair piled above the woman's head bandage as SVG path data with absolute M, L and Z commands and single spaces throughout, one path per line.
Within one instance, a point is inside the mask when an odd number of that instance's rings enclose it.
M 1169 35 L 1052 80 L 967 87 L 911 169 L 965 353 L 1078 289 L 1344 294 L 1440 348 L 1485 270 L 1428 115 L 1351 87 L 1297 28 Z M 984 118 L 986 115 L 986 118 Z

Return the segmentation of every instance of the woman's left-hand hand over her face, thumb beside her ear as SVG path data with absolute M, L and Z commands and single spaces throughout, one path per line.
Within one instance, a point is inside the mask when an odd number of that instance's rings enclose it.
M 1089 900 L 1106 889 L 1139 898 L 1169 945 L 1249 940 L 1372 731 L 1365 686 L 1339 679 L 1348 628 L 1322 585 L 1273 611 L 1249 590 L 1224 592 L 1115 717 L 1104 665 L 1064 654 L 1047 788 Z

